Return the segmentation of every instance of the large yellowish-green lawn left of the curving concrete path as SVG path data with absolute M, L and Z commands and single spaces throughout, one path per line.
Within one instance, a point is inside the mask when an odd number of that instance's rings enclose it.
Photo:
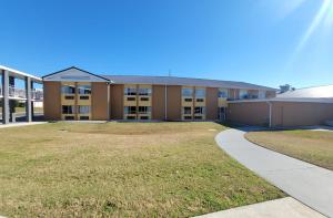
M 284 196 L 223 153 L 214 123 L 0 129 L 0 215 L 189 217 Z

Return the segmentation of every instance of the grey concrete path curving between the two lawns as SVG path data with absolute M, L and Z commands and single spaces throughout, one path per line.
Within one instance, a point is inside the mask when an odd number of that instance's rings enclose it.
M 246 131 L 216 135 L 219 146 L 233 158 L 309 207 L 333 217 L 333 172 L 254 145 Z

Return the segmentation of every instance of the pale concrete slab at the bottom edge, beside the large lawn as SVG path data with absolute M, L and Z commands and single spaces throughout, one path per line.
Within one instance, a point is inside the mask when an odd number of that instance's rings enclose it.
M 292 197 L 202 215 L 196 218 L 324 218 Z

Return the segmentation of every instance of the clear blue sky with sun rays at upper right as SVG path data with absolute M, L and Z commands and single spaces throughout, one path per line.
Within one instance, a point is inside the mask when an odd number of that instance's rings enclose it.
M 333 0 L 0 0 L 0 64 L 333 84 Z

